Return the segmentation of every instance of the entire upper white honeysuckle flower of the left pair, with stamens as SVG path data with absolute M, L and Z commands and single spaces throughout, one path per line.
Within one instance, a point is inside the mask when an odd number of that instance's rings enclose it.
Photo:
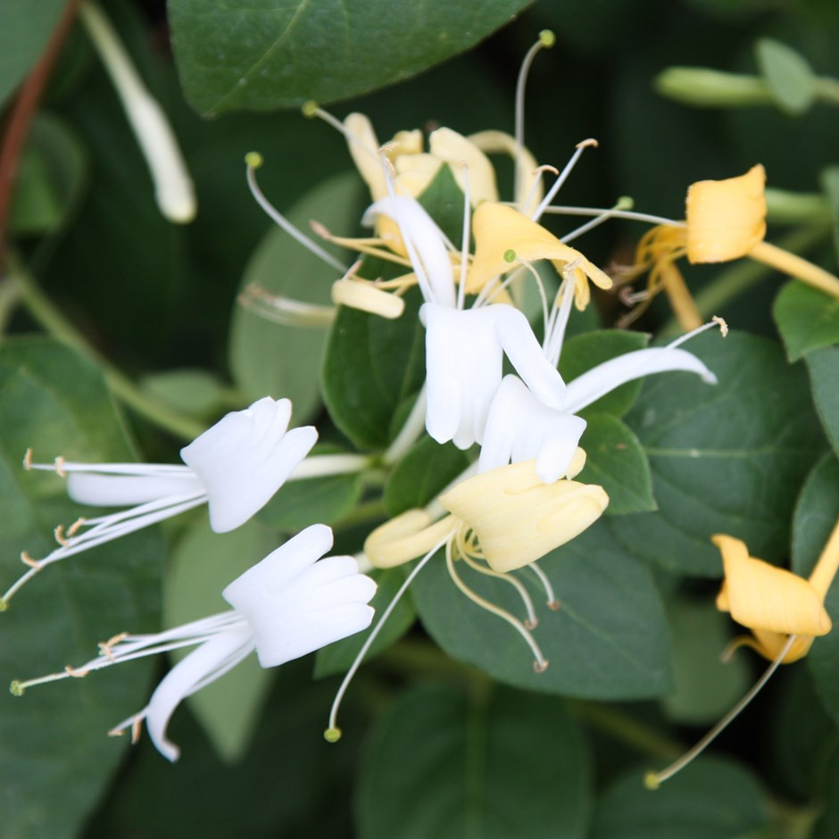
M 78 463 L 57 458 L 54 463 L 32 463 L 27 469 L 47 469 L 67 478 L 67 493 L 80 504 L 125 507 L 92 519 L 79 519 L 66 532 L 57 527 L 59 547 L 34 560 L 0 598 L 0 611 L 40 569 L 73 554 L 110 542 L 142 527 L 206 503 L 210 527 L 225 533 L 244 524 L 262 509 L 287 479 L 323 474 L 319 461 L 334 473 L 360 469 L 358 455 L 312 458 L 312 469 L 298 469 L 317 442 L 313 426 L 287 430 L 291 402 L 265 396 L 244 411 L 232 411 L 180 451 L 186 466 L 162 463 Z M 307 464 L 308 466 L 309 464 Z M 329 473 L 329 469 L 327 469 Z M 311 474 L 309 474 L 311 473 Z

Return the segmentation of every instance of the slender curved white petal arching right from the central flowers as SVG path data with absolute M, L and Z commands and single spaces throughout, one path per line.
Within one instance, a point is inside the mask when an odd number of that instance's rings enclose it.
M 717 384 L 717 377 L 693 353 L 677 348 L 650 347 L 603 361 L 569 382 L 565 410 L 577 413 L 628 381 L 674 370 L 696 373 L 709 385 Z

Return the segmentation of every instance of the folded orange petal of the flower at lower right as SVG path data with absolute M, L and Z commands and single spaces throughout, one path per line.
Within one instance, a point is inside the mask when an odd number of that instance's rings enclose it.
M 730 611 L 737 623 L 754 630 L 756 635 L 758 631 L 827 635 L 830 618 L 822 598 L 807 580 L 749 556 L 745 543 L 732 536 L 718 534 L 711 541 L 722 553 L 726 571 L 726 582 L 717 601 L 719 609 Z

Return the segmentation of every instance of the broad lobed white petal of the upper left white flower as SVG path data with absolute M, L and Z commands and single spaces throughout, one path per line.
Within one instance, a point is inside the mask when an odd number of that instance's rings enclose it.
M 233 411 L 180 450 L 209 496 L 210 526 L 224 533 L 268 503 L 318 439 L 312 426 L 287 432 L 291 403 L 266 396 Z

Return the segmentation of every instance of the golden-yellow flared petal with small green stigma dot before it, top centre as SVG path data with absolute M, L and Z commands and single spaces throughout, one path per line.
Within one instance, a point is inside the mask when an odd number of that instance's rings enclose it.
M 577 309 L 585 309 L 591 297 L 589 279 L 597 287 L 611 288 L 611 278 L 576 248 L 565 245 L 536 221 L 506 204 L 480 204 L 472 217 L 472 230 L 475 259 L 467 275 L 469 292 L 479 291 L 494 278 L 517 267 L 518 262 L 541 259 L 550 260 L 561 275 L 572 274 Z

